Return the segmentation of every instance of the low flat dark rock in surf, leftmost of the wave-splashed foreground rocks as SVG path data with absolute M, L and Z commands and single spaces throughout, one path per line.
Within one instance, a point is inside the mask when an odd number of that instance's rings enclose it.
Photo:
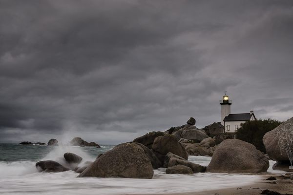
M 36 163 L 36 167 L 40 172 L 63 172 L 69 170 L 68 168 L 63 167 L 61 164 L 53 160 L 39 161 Z

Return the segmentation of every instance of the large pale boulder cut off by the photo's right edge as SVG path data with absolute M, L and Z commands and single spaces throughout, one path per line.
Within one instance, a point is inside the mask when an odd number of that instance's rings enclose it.
M 293 150 L 293 117 L 283 122 L 272 131 L 269 131 L 263 137 L 267 154 L 275 161 L 289 160 L 286 147 L 291 147 Z M 288 142 L 289 141 L 289 142 Z

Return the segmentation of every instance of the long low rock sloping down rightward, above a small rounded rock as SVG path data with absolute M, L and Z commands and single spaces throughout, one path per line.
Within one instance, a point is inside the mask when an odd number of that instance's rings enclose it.
M 192 170 L 193 173 L 205 172 L 206 170 L 206 167 L 204 166 L 189 162 L 185 158 L 174 155 L 173 153 L 168 153 L 165 157 L 164 167 L 168 168 L 168 167 L 173 167 L 175 165 L 187 166 Z

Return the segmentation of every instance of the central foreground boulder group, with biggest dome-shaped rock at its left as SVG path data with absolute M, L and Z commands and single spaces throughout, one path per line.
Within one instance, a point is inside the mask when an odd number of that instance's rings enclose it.
M 149 137 L 146 134 L 145 137 Z M 142 137 L 135 140 L 145 140 Z M 144 142 L 149 146 L 149 142 Z M 142 143 L 117 145 L 99 156 L 79 177 L 152 178 L 153 169 L 167 168 L 167 174 L 193 174 L 206 167 L 189 162 L 184 147 L 173 135 L 155 137 L 152 148 Z

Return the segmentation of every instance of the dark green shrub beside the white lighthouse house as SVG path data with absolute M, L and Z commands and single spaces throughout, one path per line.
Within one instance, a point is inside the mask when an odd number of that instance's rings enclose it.
M 262 142 L 264 135 L 279 126 L 282 122 L 273 119 L 252 120 L 241 124 L 237 130 L 236 137 L 243 141 L 253 144 L 258 150 L 266 153 L 265 146 Z

